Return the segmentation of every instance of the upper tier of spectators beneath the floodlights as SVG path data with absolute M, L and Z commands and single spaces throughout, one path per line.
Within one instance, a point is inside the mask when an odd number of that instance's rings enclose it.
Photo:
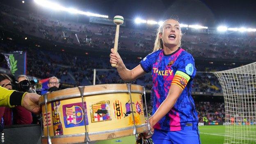
M 114 26 L 58 21 L 40 14 L 26 14 L 24 11 L 7 6 L 0 11 L 0 25 L 41 39 L 72 46 L 106 49 L 114 45 Z M 153 29 L 122 27 L 119 50 L 151 53 L 154 39 Z M 194 57 L 255 60 L 255 41 L 255 36 L 246 34 L 187 32 L 183 35 L 182 46 Z

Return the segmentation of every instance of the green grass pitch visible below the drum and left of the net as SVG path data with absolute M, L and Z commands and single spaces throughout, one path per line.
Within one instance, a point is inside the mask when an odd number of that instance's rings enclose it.
M 199 126 L 201 144 L 223 144 L 225 126 Z M 135 136 L 96 142 L 96 144 L 135 144 Z

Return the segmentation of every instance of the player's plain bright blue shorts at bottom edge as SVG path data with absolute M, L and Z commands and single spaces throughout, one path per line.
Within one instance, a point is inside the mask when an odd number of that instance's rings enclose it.
M 154 144 L 201 144 L 199 130 L 165 131 L 154 130 Z

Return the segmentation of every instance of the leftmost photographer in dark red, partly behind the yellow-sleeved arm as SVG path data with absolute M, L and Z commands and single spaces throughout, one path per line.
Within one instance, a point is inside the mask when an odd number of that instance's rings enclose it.
M 0 85 L 6 89 L 12 89 L 12 80 L 5 73 L 0 74 Z M 1 123 L 4 125 L 13 125 L 13 124 L 31 124 L 32 123 L 32 114 L 30 111 L 26 110 L 21 105 L 18 105 L 13 108 L 1 107 L 1 111 L 4 111 L 1 117 Z

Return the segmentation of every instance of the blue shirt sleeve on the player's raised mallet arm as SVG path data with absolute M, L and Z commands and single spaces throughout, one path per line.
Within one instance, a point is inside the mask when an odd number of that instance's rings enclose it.
M 148 73 L 152 70 L 152 65 L 155 62 L 155 58 L 156 58 L 156 52 L 151 53 L 149 55 L 147 55 L 146 57 L 144 57 L 144 59 L 142 59 L 142 61 L 139 62 L 139 64 L 142 66 L 142 69 Z

